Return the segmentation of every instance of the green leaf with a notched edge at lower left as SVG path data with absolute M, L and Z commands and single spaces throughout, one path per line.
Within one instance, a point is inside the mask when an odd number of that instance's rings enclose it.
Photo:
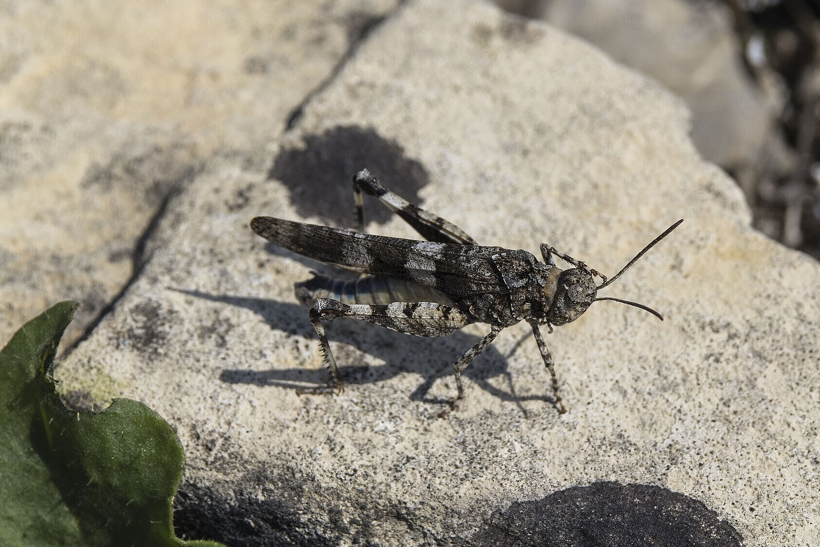
M 75 302 L 18 330 L 0 351 L 0 545 L 189 545 L 174 535 L 171 502 L 180 441 L 143 403 L 71 411 L 52 365 Z

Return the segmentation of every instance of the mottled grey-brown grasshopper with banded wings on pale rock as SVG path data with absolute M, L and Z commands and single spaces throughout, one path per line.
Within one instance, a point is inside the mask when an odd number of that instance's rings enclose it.
M 380 198 L 426 241 L 365 234 L 362 193 Z M 540 245 L 544 262 L 524 250 L 478 245 L 458 226 L 385 189 L 367 169 L 353 176 L 353 197 L 359 231 L 274 217 L 255 217 L 250 223 L 257 235 L 271 243 L 359 274 L 354 280 L 334 280 L 312 272 L 311 280 L 295 285 L 297 298 L 310 308 L 308 317 L 332 374 L 329 385 L 311 393 L 344 390 L 322 321 L 351 317 L 417 336 L 449 335 L 471 323 L 490 325 L 490 333 L 453 364 L 458 390 L 453 406 L 464 397 L 462 371 L 501 330 L 526 321 L 549 370 L 555 407 L 559 413 L 566 413 L 540 325 L 546 325 L 552 332 L 553 326 L 575 321 L 599 300 L 629 304 L 663 321 L 660 313 L 643 304 L 599 298 L 597 294 L 683 220 L 667 228 L 607 279 L 585 262 L 548 244 Z M 553 255 L 573 267 L 559 269 Z M 596 276 L 602 280 L 601 285 L 595 285 Z

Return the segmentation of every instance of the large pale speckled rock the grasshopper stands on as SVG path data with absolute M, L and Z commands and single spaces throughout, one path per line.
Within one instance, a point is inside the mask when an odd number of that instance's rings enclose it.
M 687 127 L 658 84 L 559 30 L 481 2 L 408 2 L 266 165 L 212 157 L 171 200 L 150 260 L 57 374 L 66 390 L 140 399 L 175 426 L 187 453 L 176 522 L 189 536 L 486 545 L 490 527 L 522 522 L 515 504 L 531 503 L 530 526 L 539 507 L 585 499 L 604 523 L 638 511 L 745 545 L 817 545 L 820 266 L 749 229 L 740 191 Z M 347 211 L 353 226 L 352 197 L 331 187 L 349 188 L 347 176 L 293 183 L 321 165 L 371 166 L 386 185 L 404 166 L 399 192 L 479 242 L 537 253 L 546 241 L 608 274 L 685 218 L 604 291 L 666 321 L 596 303 L 547 336 L 565 415 L 525 326 L 473 362 L 466 399 L 443 413 L 450 364 L 485 327 L 427 340 L 335 321 L 347 388 L 300 397 L 327 373 L 293 284 L 320 266 L 248 221 L 300 219 L 314 203 L 307 220 L 344 224 L 335 211 Z M 413 235 L 396 219 L 369 227 Z M 572 490 L 602 481 L 638 499 Z

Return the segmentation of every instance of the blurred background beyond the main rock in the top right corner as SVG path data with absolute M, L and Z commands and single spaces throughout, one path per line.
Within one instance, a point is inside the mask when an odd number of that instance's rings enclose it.
M 652 76 L 692 111 L 754 226 L 820 259 L 817 0 L 497 0 Z

